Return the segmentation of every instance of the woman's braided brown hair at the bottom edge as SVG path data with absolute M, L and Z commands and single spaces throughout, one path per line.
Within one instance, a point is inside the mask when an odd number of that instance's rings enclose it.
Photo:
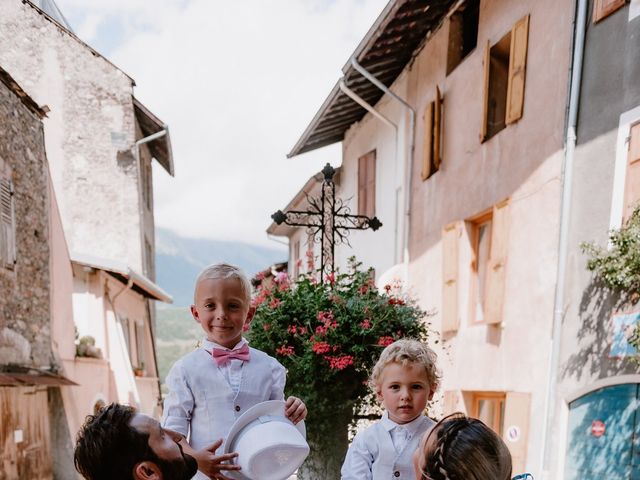
M 454 413 L 429 432 L 421 452 L 422 479 L 509 480 L 511 454 L 502 439 L 480 420 Z

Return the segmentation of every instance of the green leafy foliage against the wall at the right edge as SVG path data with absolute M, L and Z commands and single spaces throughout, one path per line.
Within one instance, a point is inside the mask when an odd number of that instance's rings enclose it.
M 589 242 L 580 245 L 590 257 L 587 269 L 607 288 L 636 302 L 640 297 L 640 205 L 620 229 L 611 231 L 609 242 L 609 249 Z M 640 325 L 629 343 L 640 350 Z

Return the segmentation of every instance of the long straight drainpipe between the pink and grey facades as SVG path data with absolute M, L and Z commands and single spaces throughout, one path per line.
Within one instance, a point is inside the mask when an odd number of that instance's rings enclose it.
M 573 61 L 569 83 L 569 106 L 567 114 L 566 145 L 562 165 L 562 204 L 560 206 L 560 233 L 558 240 L 558 266 L 553 307 L 553 327 L 551 330 L 551 358 L 549 359 L 549 382 L 545 405 L 546 425 L 542 437 L 542 477 L 552 478 L 552 456 L 554 453 L 552 435 L 557 425 L 557 374 L 560 363 L 561 329 L 564 316 L 565 276 L 569 245 L 569 219 L 571 214 L 571 194 L 573 186 L 573 163 L 576 149 L 576 126 L 580 101 L 580 83 L 582 81 L 582 58 L 586 32 L 587 0 L 578 0 L 574 24 Z

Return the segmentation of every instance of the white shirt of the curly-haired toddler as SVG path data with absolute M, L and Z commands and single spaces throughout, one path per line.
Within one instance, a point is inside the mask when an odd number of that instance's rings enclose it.
M 433 420 L 424 415 L 400 425 L 385 412 L 379 422 L 359 432 L 351 442 L 342 464 L 342 480 L 413 480 L 411 457 L 422 435 L 433 425 Z M 392 448 L 395 451 L 388 451 Z

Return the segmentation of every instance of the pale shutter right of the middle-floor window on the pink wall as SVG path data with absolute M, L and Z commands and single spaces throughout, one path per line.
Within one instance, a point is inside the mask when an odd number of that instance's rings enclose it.
M 491 248 L 485 293 L 485 321 L 502 322 L 505 272 L 509 241 L 509 201 L 504 200 L 493 207 Z

